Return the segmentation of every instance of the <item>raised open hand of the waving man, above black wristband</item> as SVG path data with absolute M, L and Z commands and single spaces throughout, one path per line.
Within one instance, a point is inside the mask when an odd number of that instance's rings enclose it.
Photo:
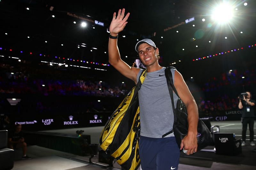
M 109 26 L 109 32 L 110 33 L 120 33 L 123 31 L 125 25 L 128 23 L 126 20 L 128 19 L 130 13 L 128 12 L 126 16 L 124 17 L 124 11 L 125 9 L 121 11 L 121 9 L 118 10 L 118 14 L 116 17 L 116 12 L 113 14 L 113 19 L 111 21 L 111 24 Z

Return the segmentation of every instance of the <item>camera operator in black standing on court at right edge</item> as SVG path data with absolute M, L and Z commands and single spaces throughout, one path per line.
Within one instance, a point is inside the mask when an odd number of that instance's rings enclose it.
M 255 105 L 255 100 L 251 99 L 251 92 L 246 91 L 246 93 L 242 93 L 239 97 L 239 104 L 238 107 L 240 109 L 243 109 L 242 113 L 242 124 L 243 124 L 243 130 L 242 130 L 242 146 L 245 146 L 245 139 L 246 139 L 246 130 L 247 130 L 247 124 L 249 124 L 249 130 L 250 130 L 250 145 L 255 146 L 253 142 L 254 132 L 254 110 L 253 107 Z

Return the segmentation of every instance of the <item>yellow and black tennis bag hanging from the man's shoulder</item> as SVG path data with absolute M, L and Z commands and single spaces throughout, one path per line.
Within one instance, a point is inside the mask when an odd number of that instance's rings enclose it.
M 135 87 L 127 94 L 106 123 L 100 135 L 100 147 L 121 165 L 122 170 L 140 166 L 140 109 L 138 91 L 147 74 L 144 69 Z

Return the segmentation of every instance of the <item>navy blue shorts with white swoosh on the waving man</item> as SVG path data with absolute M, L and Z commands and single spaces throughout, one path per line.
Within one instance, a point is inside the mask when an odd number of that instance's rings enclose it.
M 175 137 L 140 136 L 139 154 L 142 170 L 178 169 L 180 148 Z

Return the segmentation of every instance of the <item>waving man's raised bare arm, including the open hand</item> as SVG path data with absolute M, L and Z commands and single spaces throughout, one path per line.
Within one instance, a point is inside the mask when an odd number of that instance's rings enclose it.
M 118 33 L 123 31 L 125 25 L 127 24 L 127 19 L 130 13 L 127 13 L 124 17 L 124 9 L 121 11 L 119 9 L 117 17 L 116 12 L 113 14 L 113 19 L 109 26 L 110 35 L 117 36 Z M 137 74 L 139 73 L 140 69 L 135 67 L 130 67 L 127 63 L 125 63 L 120 56 L 118 47 L 117 47 L 117 39 L 108 40 L 108 62 L 121 74 L 125 77 L 132 79 L 136 83 Z

